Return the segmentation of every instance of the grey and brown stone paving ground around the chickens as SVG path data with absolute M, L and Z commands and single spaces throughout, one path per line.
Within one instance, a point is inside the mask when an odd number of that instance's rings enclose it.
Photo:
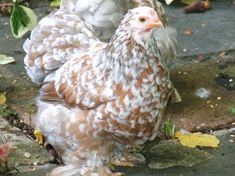
M 32 6 L 39 17 L 49 12 L 44 1 Z M 213 0 L 212 10 L 202 14 L 186 15 L 181 5 L 168 6 L 166 11 L 169 23 L 178 31 L 178 57 L 171 68 L 171 79 L 182 96 L 181 103 L 170 104 L 167 117 L 173 119 L 176 128 L 216 131 L 221 144 L 218 149 L 188 151 L 179 148 L 175 140 L 163 141 L 156 144 L 156 152 L 145 153 L 148 163 L 158 169 L 149 169 L 147 165 L 118 169 L 128 176 L 233 175 L 235 147 L 231 134 L 235 133 L 232 130 L 235 116 L 230 111 L 235 107 L 235 5 L 232 0 Z M 0 66 L 0 93 L 6 92 L 7 104 L 30 124 L 36 111 L 38 88 L 30 82 L 23 66 L 22 44 L 28 36 L 14 39 L 8 17 L 0 17 L 0 26 L 0 53 L 16 59 L 14 64 Z M 192 35 L 184 35 L 186 30 L 192 30 Z M 211 95 L 195 96 L 199 88 L 205 88 Z M 16 167 L 22 172 L 18 175 L 41 176 L 54 167 L 48 164 L 51 158 L 45 149 L 2 118 L 0 124 L 1 131 L 10 136 L 9 142 L 16 146 L 10 164 L 17 163 Z M 182 153 L 188 154 L 182 156 Z M 190 165 L 193 166 L 186 167 Z

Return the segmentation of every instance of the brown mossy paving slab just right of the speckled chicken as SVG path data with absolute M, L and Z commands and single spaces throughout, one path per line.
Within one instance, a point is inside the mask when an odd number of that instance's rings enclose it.
M 171 104 L 168 109 L 168 117 L 171 117 L 177 128 L 188 130 L 211 129 L 235 121 L 229 111 L 235 106 L 235 91 L 227 90 L 216 80 L 221 74 L 235 75 L 234 52 L 229 56 L 213 56 L 217 59 L 206 62 L 184 65 L 174 69 L 171 79 L 182 96 L 183 101 Z M 226 67 L 221 64 L 229 62 Z M 232 81 L 232 80 L 231 80 Z M 199 88 L 205 88 L 210 92 L 208 98 L 200 98 L 195 95 Z

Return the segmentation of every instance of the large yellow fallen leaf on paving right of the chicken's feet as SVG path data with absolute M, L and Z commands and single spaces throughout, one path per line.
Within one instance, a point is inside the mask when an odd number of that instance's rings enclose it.
M 202 134 L 202 133 L 189 133 L 182 134 L 176 132 L 175 137 L 177 137 L 183 146 L 195 148 L 197 146 L 201 147 L 218 147 L 220 141 L 216 136 Z

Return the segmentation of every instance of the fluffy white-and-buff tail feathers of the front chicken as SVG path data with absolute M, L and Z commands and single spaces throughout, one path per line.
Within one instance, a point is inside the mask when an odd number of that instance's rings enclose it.
M 71 55 L 88 51 L 97 41 L 91 27 L 79 16 L 55 10 L 38 23 L 23 45 L 27 73 L 40 85 L 45 76 L 63 65 Z

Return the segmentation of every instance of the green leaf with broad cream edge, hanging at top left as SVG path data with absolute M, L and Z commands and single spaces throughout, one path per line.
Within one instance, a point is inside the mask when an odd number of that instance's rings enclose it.
M 14 37 L 20 38 L 37 25 L 37 16 L 30 8 L 16 4 L 12 10 L 10 23 Z

